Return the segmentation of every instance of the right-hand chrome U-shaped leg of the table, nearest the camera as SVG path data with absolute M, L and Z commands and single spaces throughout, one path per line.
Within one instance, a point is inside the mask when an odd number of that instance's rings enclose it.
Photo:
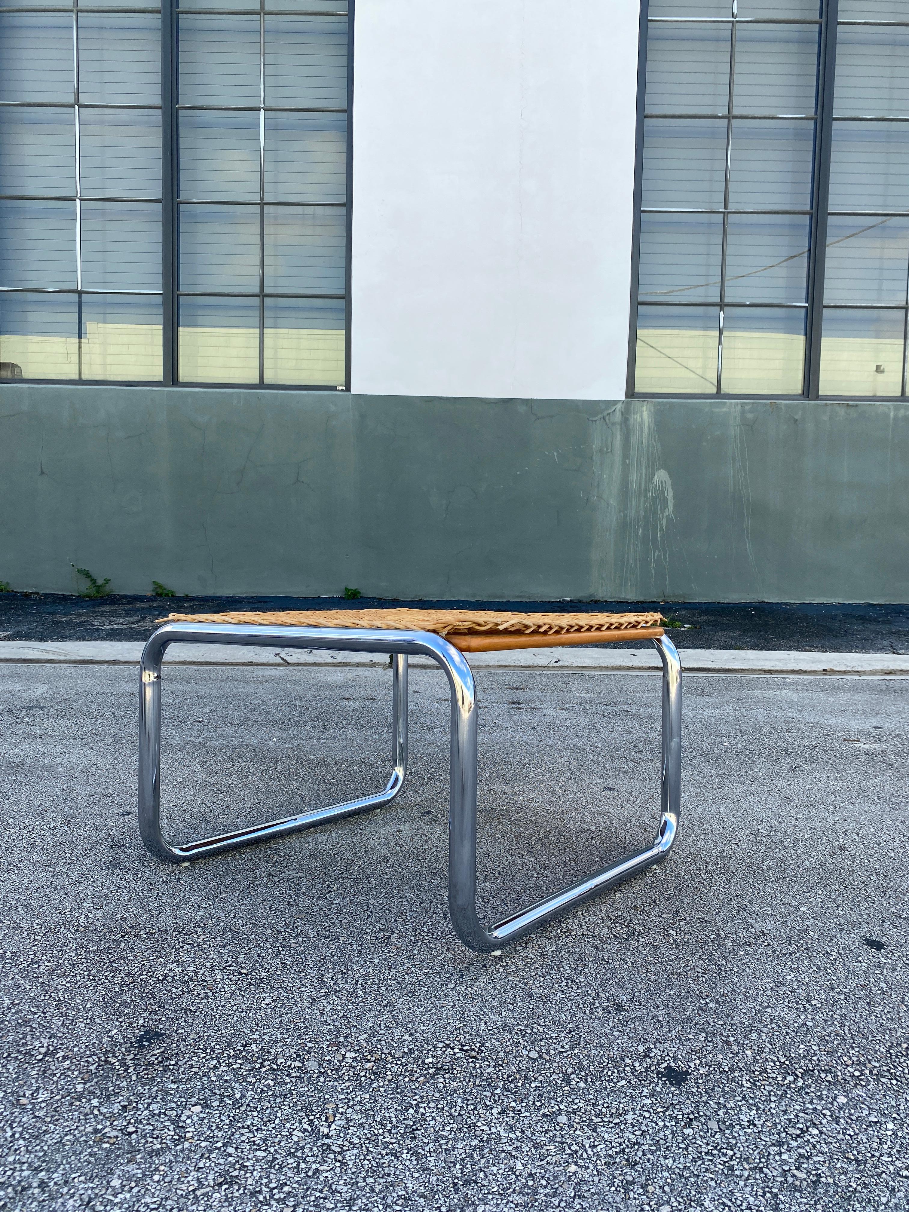
M 679 829 L 681 782 L 681 662 L 668 636 L 653 641 L 663 662 L 662 813 L 653 845 L 503 917 L 488 928 L 476 915 L 476 694 L 473 678 L 448 673 L 451 701 L 451 814 L 448 909 L 458 938 L 474 951 L 493 951 L 606 888 L 662 862 Z

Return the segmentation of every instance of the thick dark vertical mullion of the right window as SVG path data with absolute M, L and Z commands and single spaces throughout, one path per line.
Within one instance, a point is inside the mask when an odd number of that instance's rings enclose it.
M 824 0 L 818 56 L 818 118 L 814 136 L 814 183 L 812 187 L 812 233 L 808 257 L 808 318 L 805 342 L 806 393 L 821 395 L 821 337 L 824 322 L 824 268 L 827 264 L 827 221 L 830 206 L 830 149 L 833 145 L 834 82 L 836 76 L 836 19 L 839 0 Z

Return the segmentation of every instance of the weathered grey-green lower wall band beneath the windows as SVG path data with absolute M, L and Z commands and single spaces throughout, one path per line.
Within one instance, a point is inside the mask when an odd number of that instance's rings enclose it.
M 0 388 L 0 581 L 908 601 L 909 405 Z

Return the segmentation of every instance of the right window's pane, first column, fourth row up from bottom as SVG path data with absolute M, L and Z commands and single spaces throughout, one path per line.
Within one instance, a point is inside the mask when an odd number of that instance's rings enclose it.
M 647 34 L 647 112 L 725 114 L 730 96 L 730 23 L 656 23 Z

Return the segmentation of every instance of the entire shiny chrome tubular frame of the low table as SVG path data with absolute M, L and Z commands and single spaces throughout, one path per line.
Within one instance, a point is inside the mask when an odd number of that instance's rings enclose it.
M 320 648 L 388 653 L 393 659 L 393 765 L 378 795 L 316 808 L 296 817 L 171 846 L 161 836 L 159 772 L 161 751 L 161 661 L 171 644 L 239 644 L 259 647 Z M 448 811 L 448 910 L 458 938 L 474 951 L 494 951 L 515 942 L 583 901 L 662 862 L 679 828 L 681 782 L 681 663 L 668 636 L 653 641 L 663 662 L 662 814 L 652 846 L 612 863 L 490 927 L 476 913 L 476 687 L 463 653 L 430 631 L 354 630 L 351 628 L 259 627 L 234 623 L 166 623 L 142 654 L 139 707 L 139 831 L 156 858 L 181 863 L 389 804 L 407 771 L 407 659 L 429 657 L 444 670 L 451 690 L 451 783 Z

